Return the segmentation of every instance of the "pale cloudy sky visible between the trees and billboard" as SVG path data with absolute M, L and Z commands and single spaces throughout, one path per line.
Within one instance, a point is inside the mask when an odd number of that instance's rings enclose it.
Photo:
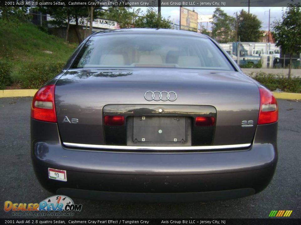
M 146 7 L 134 7 L 141 8 L 143 12 L 146 12 Z M 195 10 L 198 15 L 212 15 L 215 8 L 214 7 L 185 7 L 190 10 Z M 248 11 L 248 7 L 221 7 L 224 12 L 228 15 L 233 16 L 235 12 L 240 12 L 240 10 Z M 262 22 L 262 30 L 268 30 L 269 24 L 269 9 L 271 10 L 270 24 L 272 25 L 273 20 L 281 19 L 283 7 L 250 7 L 250 13 L 257 16 L 257 18 Z M 265 12 L 267 11 L 267 12 Z M 161 7 L 161 15 L 165 18 L 170 16 L 170 20 L 175 20 L 176 24 L 180 23 L 180 7 Z M 202 23 L 206 27 L 206 23 Z M 272 26 L 270 26 L 271 29 Z M 209 24 L 209 30 L 211 25 Z

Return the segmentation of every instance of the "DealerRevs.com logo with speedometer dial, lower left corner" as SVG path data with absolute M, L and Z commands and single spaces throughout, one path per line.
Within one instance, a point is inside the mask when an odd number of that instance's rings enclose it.
M 74 212 L 81 210 L 82 204 L 74 204 L 70 197 L 64 195 L 54 195 L 40 203 L 4 202 L 4 211 L 12 211 L 13 216 L 73 216 Z

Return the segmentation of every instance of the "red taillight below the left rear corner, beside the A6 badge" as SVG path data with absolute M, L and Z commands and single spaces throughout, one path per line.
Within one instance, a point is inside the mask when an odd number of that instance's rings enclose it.
M 56 123 L 54 105 L 55 85 L 48 85 L 35 93 L 31 103 L 31 118 Z

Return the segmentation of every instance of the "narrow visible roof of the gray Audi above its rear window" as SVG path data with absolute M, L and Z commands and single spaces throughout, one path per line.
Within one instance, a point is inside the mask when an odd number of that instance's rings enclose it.
M 103 34 L 124 34 L 124 33 L 144 33 L 144 34 L 170 34 L 170 35 L 185 35 L 185 36 L 193 36 L 193 37 L 203 37 L 208 38 L 206 35 L 192 32 L 192 31 L 183 31 L 183 30 L 173 30 L 173 29 L 152 29 L 152 28 L 125 28 L 125 29 L 116 29 L 116 30 L 105 30 L 95 32 L 92 36 L 101 36 Z

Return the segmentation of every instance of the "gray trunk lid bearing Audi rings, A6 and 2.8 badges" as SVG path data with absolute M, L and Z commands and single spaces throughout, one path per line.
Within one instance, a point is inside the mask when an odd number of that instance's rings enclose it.
M 164 94 L 175 92 L 177 98 L 174 101 L 165 98 L 163 100 L 166 101 L 146 100 L 147 91 Z M 197 145 L 251 143 L 256 130 L 259 104 L 257 85 L 245 75 L 233 71 L 175 68 L 71 69 L 61 76 L 55 87 L 58 128 L 62 141 L 67 143 L 117 145 L 118 142 L 108 143 L 103 118 L 110 113 L 122 115 L 126 105 L 131 105 L 132 111 L 162 108 L 164 112 L 169 110 L 178 113 L 170 115 L 173 117 L 189 116 L 193 118 L 191 129 L 196 116 L 189 113 L 191 108 L 198 107 L 199 116 L 209 116 L 211 113 L 215 123 L 210 131 L 210 141 Z M 107 105 L 113 105 L 115 111 Z M 135 116 L 142 117 L 143 113 Z M 126 126 L 124 129 L 127 133 Z M 210 132 L 203 131 L 200 139 Z M 125 138 L 122 145 L 129 145 L 126 141 L 129 138 L 119 136 L 119 139 L 122 138 Z

